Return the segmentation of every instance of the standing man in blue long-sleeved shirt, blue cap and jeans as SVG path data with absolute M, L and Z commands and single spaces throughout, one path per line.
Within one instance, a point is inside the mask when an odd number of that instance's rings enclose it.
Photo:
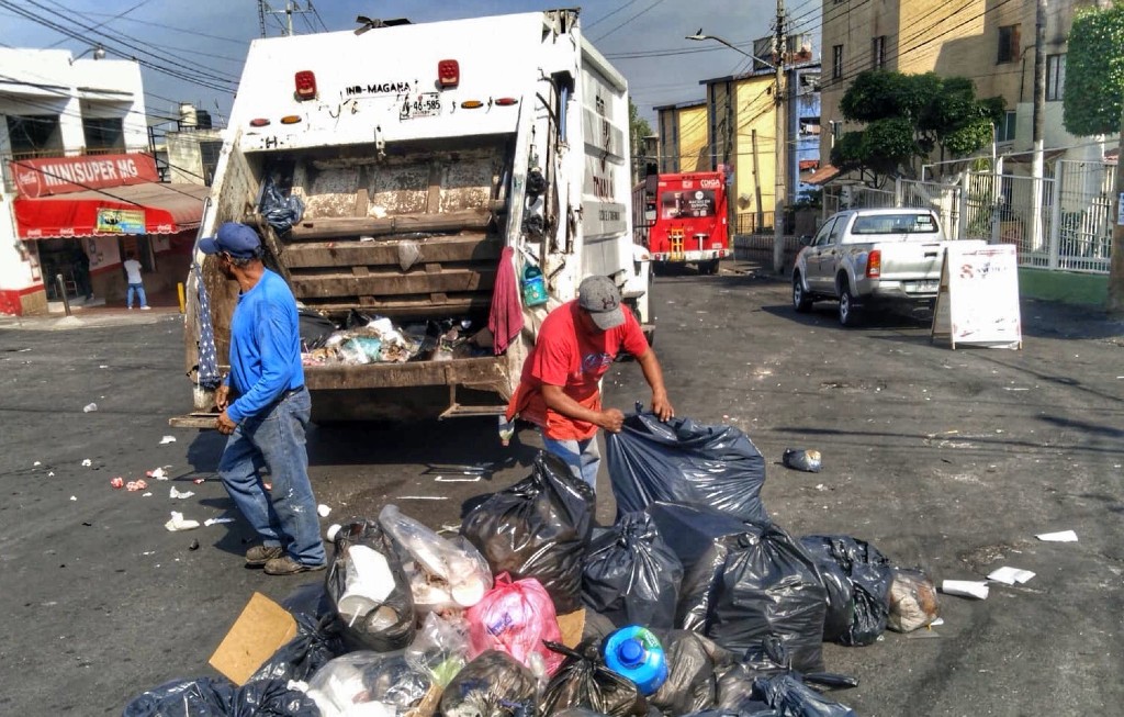
M 219 433 L 229 436 L 218 473 L 242 515 L 262 538 L 246 564 L 270 575 L 325 566 L 316 498 L 308 480 L 305 429 L 311 401 L 300 363 L 297 301 L 284 280 L 265 269 L 252 227 L 228 221 L 199 249 L 238 282 L 230 319 L 230 373 L 216 392 Z M 257 466 L 269 466 L 266 491 Z

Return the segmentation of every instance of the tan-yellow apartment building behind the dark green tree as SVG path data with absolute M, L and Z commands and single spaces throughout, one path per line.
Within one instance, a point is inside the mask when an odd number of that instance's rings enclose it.
M 1051 2 L 1046 13 L 1046 102 L 1043 108 L 1046 148 L 1071 149 L 1069 158 L 1091 158 L 1081 143 L 1062 127 L 1066 38 L 1078 7 L 1089 0 Z M 854 76 L 885 69 L 907 74 L 935 72 L 969 78 L 977 97 L 1001 96 L 1007 116 L 996 127 L 997 148 L 1013 158 L 1026 158 L 1033 146 L 1035 2 L 1033 0 L 823 0 L 823 65 L 821 156 L 826 163 L 832 143 L 843 131 L 840 100 Z M 830 131 L 827 131 L 830 129 Z M 1099 154 L 1099 149 L 1095 151 Z M 1099 156 L 1097 157 L 1099 158 Z

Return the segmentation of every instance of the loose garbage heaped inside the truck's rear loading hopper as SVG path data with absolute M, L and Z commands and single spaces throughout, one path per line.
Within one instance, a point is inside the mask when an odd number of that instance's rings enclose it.
M 491 355 L 487 329 L 472 332 L 471 319 L 396 325 L 387 317 L 356 310 L 343 326 L 308 308 L 300 309 L 305 365 L 360 365 L 451 361 Z

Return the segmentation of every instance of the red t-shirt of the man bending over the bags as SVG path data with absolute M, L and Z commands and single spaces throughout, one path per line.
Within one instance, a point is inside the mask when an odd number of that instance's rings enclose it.
M 622 348 L 634 356 L 647 351 L 647 339 L 628 307 L 625 323 L 607 332 L 590 334 L 578 319 L 577 300 L 551 311 L 538 330 L 534 348 L 523 364 L 519 389 L 511 397 L 509 417 L 518 414 L 543 428 L 547 438 L 584 441 L 597 426 L 546 408 L 542 385 L 560 385 L 566 396 L 591 410 L 601 410 L 599 382 Z

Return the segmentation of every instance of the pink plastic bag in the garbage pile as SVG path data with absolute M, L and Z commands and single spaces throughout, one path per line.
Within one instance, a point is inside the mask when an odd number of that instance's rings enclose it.
M 508 573 L 496 577 L 496 587 L 464 614 L 469 620 L 469 659 L 487 650 L 511 655 L 533 672 L 546 674 L 562 664 L 563 656 L 543 644 L 562 642 L 554 602 L 534 578 L 511 582 Z M 536 664 L 540 663 L 541 664 Z

